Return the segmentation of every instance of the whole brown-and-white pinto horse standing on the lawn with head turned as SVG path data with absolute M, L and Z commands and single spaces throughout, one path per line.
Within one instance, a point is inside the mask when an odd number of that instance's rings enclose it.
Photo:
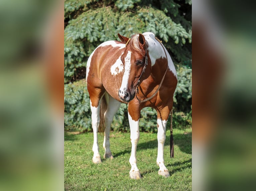
M 102 43 L 92 52 L 87 62 L 86 82 L 94 134 L 93 163 L 102 162 L 98 146 L 100 122 L 105 126 L 104 158 L 113 159 L 109 141 L 110 127 L 120 104 L 127 103 L 132 145 L 129 176 L 131 179 L 140 179 L 136 159 L 140 111 L 144 107 L 152 107 L 157 111 L 158 174 L 168 177 L 163 148 L 166 122 L 172 111 L 177 85 L 175 67 L 166 48 L 154 33 L 135 34 L 131 38 L 118 33 L 118 37 L 121 42 Z

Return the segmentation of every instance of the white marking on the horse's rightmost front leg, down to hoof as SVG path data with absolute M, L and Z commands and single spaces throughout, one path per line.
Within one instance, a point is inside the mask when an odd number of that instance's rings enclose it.
M 159 166 L 158 174 L 168 177 L 170 176 L 169 171 L 164 165 L 164 159 L 163 159 L 163 147 L 165 142 L 165 128 L 166 128 L 166 122 L 165 120 L 157 119 L 157 140 L 158 140 L 158 150 L 157 150 L 157 159 L 156 163 Z

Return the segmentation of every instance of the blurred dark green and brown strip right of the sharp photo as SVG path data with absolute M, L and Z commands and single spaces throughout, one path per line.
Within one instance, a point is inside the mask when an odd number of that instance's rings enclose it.
M 254 190 L 255 11 L 193 0 L 193 190 Z

